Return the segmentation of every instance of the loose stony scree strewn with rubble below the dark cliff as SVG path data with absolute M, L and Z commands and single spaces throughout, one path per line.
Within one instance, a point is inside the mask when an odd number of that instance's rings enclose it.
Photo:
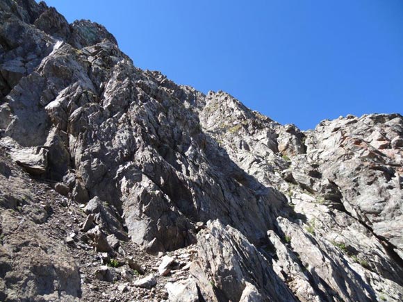
M 17 221 L 24 221 L 24 219 L 32 219 L 31 208 L 45 209 L 37 211 L 40 215 L 36 217 L 40 217 L 40 221 L 35 221 L 39 226 L 36 230 L 40 230 L 41 236 L 47 237 L 51 242 L 66 246 L 69 261 L 74 263 L 80 274 L 81 301 L 165 301 L 167 299 L 165 285 L 168 282 L 174 283 L 188 278 L 188 264 L 197 258 L 194 246 L 171 253 L 149 255 L 129 241 L 120 242 L 120 246 L 113 253 L 95 251 L 93 246 L 81 239 L 85 235 L 82 224 L 87 216 L 83 212 L 83 205 L 56 192 L 54 182 L 44 178 L 31 178 L 10 159 L 10 156 L 6 155 L 8 152 L 3 146 L 0 146 L 0 150 L 1 198 L 10 199 L 8 192 L 20 192 L 19 186 L 22 183 L 13 182 L 13 179 L 17 178 L 19 181 L 24 181 L 24 188 L 29 190 L 25 198 L 33 201 L 33 203 L 17 205 L 17 208 L 8 210 L 7 214 Z M 10 177 L 3 176 L 5 170 Z M 2 215 L 6 213 L 3 212 Z M 7 249 L 10 243 L 8 235 L 5 233 L 1 235 L 1 243 Z M 30 237 L 36 237 L 35 230 L 29 230 L 26 236 L 27 240 L 31 241 Z M 69 237 L 73 240 L 67 240 Z M 158 265 L 164 256 L 174 259 L 175 264 L 170 266 L 169 274 L 160 276 Z M 117 261 L 116 264 L 114 260 Z M 4 262 L 2 264 L 5 265 Z M 110 279 L 97 274 L 97 271 L 102 269 L 108 271 Z M 156 276 L 155 287 L 142 288 L 133 285 L 135 280 L 149 275 Z

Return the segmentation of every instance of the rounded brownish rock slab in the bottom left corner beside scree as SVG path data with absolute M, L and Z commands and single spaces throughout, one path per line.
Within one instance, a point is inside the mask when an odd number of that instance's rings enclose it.
M 79 301 L 79 268 L 63 242 L 42 235 L 41 228 L 8 211 L 1 211 L 0 225 L 2 301 L 28 301 L 34 296 L 36 301 Z M 22 227 L 19 232 L 17 225 Z

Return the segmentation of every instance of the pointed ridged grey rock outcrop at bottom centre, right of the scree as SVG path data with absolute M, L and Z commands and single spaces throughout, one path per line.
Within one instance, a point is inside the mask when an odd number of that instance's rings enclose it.
M 211 221 L 197 239 L 204 269 L 211 270 L 215 286 L 227 299 L 239 301 L 250 283 L 265 301 L 297 301 L 270 262 L 238 230 Z

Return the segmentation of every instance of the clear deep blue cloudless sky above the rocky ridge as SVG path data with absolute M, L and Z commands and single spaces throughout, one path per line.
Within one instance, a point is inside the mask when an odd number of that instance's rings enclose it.
M 47 0 L 137 67 L 224 90 L 281 124 L 403 113 L 402 0 Z

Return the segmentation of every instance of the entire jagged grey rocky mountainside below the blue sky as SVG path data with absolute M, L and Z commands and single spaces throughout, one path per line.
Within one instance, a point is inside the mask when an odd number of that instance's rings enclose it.
M 401 115 L 299 131 L 44 3 L 0 19 L 1 301 L 403 300 Z

